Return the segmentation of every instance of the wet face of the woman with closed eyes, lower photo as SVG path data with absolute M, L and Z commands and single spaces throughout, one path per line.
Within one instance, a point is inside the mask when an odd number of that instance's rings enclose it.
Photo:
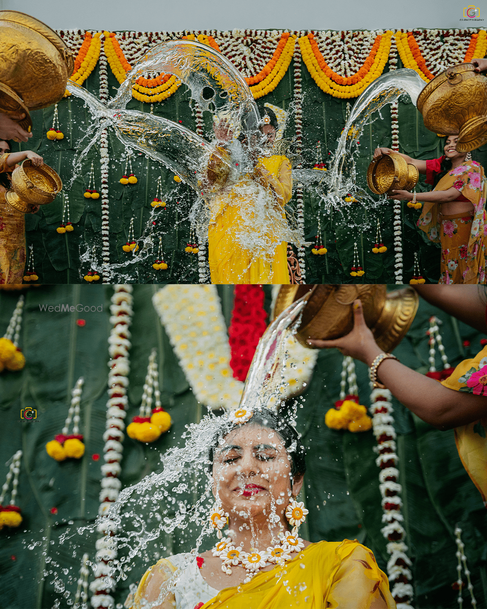
M 215 449 L 213 493 L 219 496 L 230 520 L 244 512 L 283 521 L 290 496 L 301 488 L 295 476 L 291 492 L 291 463 L 282 438 L 259 424 L 242 425 L 225 436 Z

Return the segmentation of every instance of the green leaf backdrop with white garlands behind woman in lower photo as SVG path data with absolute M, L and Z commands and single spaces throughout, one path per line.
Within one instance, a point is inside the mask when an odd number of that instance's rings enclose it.
M 104 530 L 86 530 L 70 537 L 70 543 L 60 543 L 68 529 L 72 532 L 77 526 L 93 524 L 121 488 L 161 470 L 161 454 L 177 445 L 184 426 L 199 421 L 206 412 L 205 404 L 212 399 L 211 392 L 205 396 L 195 391 L 203 376 L 211 391 L 218 378 L 231 379 L 231 372 L 221 374 L 226 368 L 220 361 L 220 357 L 229 360 L 229 348 L 226 352 L 219 348 L 212 355 L 207 350 L 203 358 L 198 351 L 199 347 L 205 348 L 200 329 L 211 330 L 215 323 L 212 315 L 217 315 L 216 323 L 222 324 L 222 340 L 226 328 L 233 327 L 233 333 L 242 323 L 233 286 L 167 286 L 163 292 L 158 290 L 158 286 L 33 286 L 25 293 L 18 345 L 26 364 L 20 371 L 0 373 L 2 483 L 10 459 L 23 451 L 18 457 L 15 495 L 23 522 L 16 529 L 5 526 L 0 530 L 2 607 L 40 609 L 52 607 L 57 598 L 61 608 L 71 607 L 86 560 L 96 568 L 94 573 L 89 568 L 88 576 L 83 576 L 91 606 L 100 607 L 105 601 L 110 605 L 111 599 L 123 603 L 129 586 L 155 558 L 164 552 L 190 549 L 182 530 L 165 533 L 149 546 L 147 559 L 135 560 L 127 580 L 113 583 L 107 590 L 104 574 L 117 549 L 98 539 Z M 251 306 L 257 311 L 256 307 L 263 305 L 268 314 L 271 301 L 271 286 L 265 286 L 263 303 L 259 300 Z M 0 336 L 17 302 L 17 292 L 0 290 Z M 160 311 L 155 307 L 161 309 L 162 305 L 169 311 L 169 320 L 164 323 L 171 323 L 173 311 L 173 322 L 181 328 L 184 315 L 194 319 L 196 312 L 206 311 L 198 315 L 202 325 L 197 337 L 189 334 L 191 329 L 184 330 L 192 361 L 184 357 L 181 338 L 173 336 L 170 328 L 166 334 L 159 322 Z M 434 322 L 433 315 L 441 323 Z M 262 319 L 262 315 L 256 317 Z M 430 343 L 432 335 L 437 336 L 435 324 L 444 346 L 444 350 L 438 347 L 436 357 L 431 354 Z M 258 327 L 259 323 L 256 331 Z M 176 345 L 174 350 L 170 336 Z M 197 341 L 196 348 L 192 340 Z M 445 363 L 441 354 L 454 366 L 480 351 L 480 340 L 469 326 L 421 301 L 412 328 L 394 354 L 405 365 L 426 373 L 432 366 L 430 357 L 438 370 Z M 169 412 L 172 426 L 146 444 L 130 437 L 125 427 L 132 417 L 139 416 L 142 401 L 147 403 L 149 392 L 144 382 L 156 387 L 146 378 L 153 349 L 156 365 L 152 378 L 158 382 L 161 406 Z M 212 366 L 214 362 L 218 365 Z M 189 364 L 201 370 L 199 377 L 189 375 Z M 238 375 L 238 368 L 233 362 L 229 369 Z M 309 366 L 296 373 L 309 375 Z M 324 423 L 335 401 L 343 399 L 347 375 L 350 389 L 357 384 L 360 404 L 371 406 L 373 429 L 351 432 L 331 429 Z M 47 454 L 45 446 L 63 429 L 69 405 L 77 403 L 71 392 L 80 377 L 84 383 L 82 393 L 76 394 L 80 419 L 77 433 L 83 436 L 84 454 L 58 462 Z M 155 392 L 153 396 L 158 399 Z M 458 607 L 458 579 L 465 586 L 464 607 L 470 602 L 466 576 L 461 572 L 458 577 L 457 572 L 458 525 L 477 607 L 487 607 L 487 512 L 461 465 L 454 433 L 433 429 L 396 400 L 389 403 L 384 397 L 387 395 L 381 392 L 371 395 L 365 365 L 357 362 L 353 371 L 349 362 L 343 367 L 343 356 L 337 350 L 318 352 L 296 417 L 307 447 L 302 500 L 309 515 L 303 536 L 311 541 L 357 538 L 374 551 L 380 568 L 390 576 L 391 588 L 413 586 L 409 594 L 413 607 L 446 609 Z M 22 411 L 25 414 L 29 408 L 35 417 L 31 414 L 27 420 Z M 381 469 L 381 465 L 386 468 Z M 190 502 L 191 498 L 187 496 Z M 9 501 L 10 490 L 4 505 Z M 403 521 L 388 519 L 394 503 L 401 506 L 398 514 Z M 172 517 L 177 506 L 161 504 L 161 510 Z M 406 559 L 401 562 L 402 555 Z M 408 589 L 403 590 L 407 596 Z

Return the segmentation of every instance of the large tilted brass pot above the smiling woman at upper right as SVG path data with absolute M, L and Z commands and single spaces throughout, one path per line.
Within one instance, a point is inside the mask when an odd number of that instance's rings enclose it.
M 487 141 L 487 78 L 472 63 L 450 66 L 421 91 L 418 110 L 434 133 L 458 135 L 458 152 Z

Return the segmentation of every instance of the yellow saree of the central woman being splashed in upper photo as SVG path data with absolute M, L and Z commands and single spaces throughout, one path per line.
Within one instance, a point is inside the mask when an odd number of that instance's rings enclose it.
M 292 195 L 291 164 L 286 157 L 273 155 L 259 158 L 258 169 L 262 169 L 259 181 L 270 193 L 279 213 L 286 217 L 282 208 Z M 211 220 L 208 229 L 208 262 L 211 283 L 289 283 L 287 270 L 287 243 L 276 243 L 272 257 L 264 258 L 255 249 L 241 248 L 238 233 L 246 231 L 248 238 L 256 240 L 259 233 L 256 219 L 256 199 L 259 197 L 254 178 L 246 175 L 231 191 L 219 195 L 210 204 Z M 268 224 L 263 238 L 272 241 L 273 224 Z

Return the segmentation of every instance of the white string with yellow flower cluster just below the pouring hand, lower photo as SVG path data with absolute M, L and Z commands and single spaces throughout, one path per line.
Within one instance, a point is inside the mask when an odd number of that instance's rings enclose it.
M 348 383 L 348 393 L 346 385 Z M 359 402 L 359 388 L 353 357 L 343 357 L 342 379 L 340 381 L 340 400 L 335 407 L 328 410 L 324 422 L 331 429 L 348 429 L 351 432 L 368 431 L 372 420 L 367 415 L 367 409 Z

